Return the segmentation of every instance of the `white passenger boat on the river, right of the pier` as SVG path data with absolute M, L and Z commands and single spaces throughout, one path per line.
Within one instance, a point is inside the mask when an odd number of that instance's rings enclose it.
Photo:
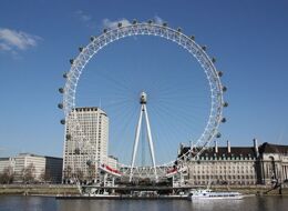
M 199 199 L 243 199 L 243 194 L 239 192 L 217 192 L 212 191 L 210 189 L 199 189 L 192 190 L 188 194 L 189 200 L 199 200 Z

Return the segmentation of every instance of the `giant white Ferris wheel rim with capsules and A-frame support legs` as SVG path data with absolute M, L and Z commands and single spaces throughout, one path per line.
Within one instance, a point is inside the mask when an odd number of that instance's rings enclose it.
M 188 151 L 182 153 L 175 160 L 157 164 L 152 135 L 153 128 L 151 128 L 147 112 L 150 96 L 145 92 L 145 90 L 140 91 L 140 115 L 137 121 L 138 123 L 135 127 L 135 138 L 132 148 L 133 151 L 131 152 L 131 162 L 121 163 L 120 161 L 117 163 L 117 170 L 111 170 L 110 168 L 107 170 L 115 175 L 127 177 L 130 178 L 130 181 L 132 181 L 134 177 L 158 180 L 161 178 L 171 177 L 181 171 L 181 168 L 175 167 L 175 163 L 182 163 L 186 158 L 198 157 L 208 147 L 214 138 L 220 137 L 218 127 L 222 122 L 226 122 L 226 118 L 223 117 L 223 108 L 228 105 L 223 98 L 223 93 L 227 90 L 227 88 L 220 82 L 223 72 L 217 71 L 215 67 L 216 59 L 209 58 L 206 52 L 206 47 L 197 44 L 193 36 L 188 37 L 184 34 L 181 28 L 172 29 L 167 26 L 167 23 L 160 24 L 154 21 L 137 22 L 135 20 L 130 24 L 122 24 L 119 22 L 116 28 L 104 29 L 102 34 L 91 37 L 91 42 L 86 47 L 79 49 L 79 56 L 75 59 L 70 60 L 70 71 L 63 76 L 66 80 L 65 86 L 64 88 L 59 89 L 59 91 L 63 94 L 63 103 L 60 103 L 59 108 L 63 109 L 65 115 L 65 120 L 61 120 L 61 123 L 68 123 L 69 119 L 69 123 L 72 127 L 69 134 L 70 137 L 66 137 L 66 139 L 70 139 L 71 135 L 76 139 L 78 143 L 75 145 L 75 151 L 78 151 L 78 153 L 84 152 L 89 162 L 95 162 L 91 159 L 93 158 L 93 150 L 91 150 L 93 147 L 89 143 L 89 140 L 85 137 L 85 131 L 81 127 L 78 115 L 73 112 L 76 109 L 76 91 L 81 74 L 90 60 L 102 49 L 105 49 L 107 44 L 114 43 L 127 37 L 140 36 L 158 37 L 161 39 L 177 43 L 185 52 L 196 59 L 207 79 L 206 83 L 209 90 L 209 113 L 202 133 L 196 140 L 194 140 L 193 147 L 191 147 Z M 143 130 L 142 123 L 146 124 L 147 141 L 152 161 L 150 167 L 135 164 L 140 133 L 141 129 Z M 105 168 L 106 165 L 102 164 L 101 167 Z

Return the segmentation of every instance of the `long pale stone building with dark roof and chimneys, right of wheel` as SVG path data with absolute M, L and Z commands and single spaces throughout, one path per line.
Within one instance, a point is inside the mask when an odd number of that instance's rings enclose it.
M 181 147 L 179 154 L 191 148 Z M 193 151 L 192 151 L 193 153 Z M 218 147 L 205 150 L 198 158 L 184 158 L 189 184 L 271 184 L 284 182 L 288 177 L 288 145 L 270 143 L 253 147 Z

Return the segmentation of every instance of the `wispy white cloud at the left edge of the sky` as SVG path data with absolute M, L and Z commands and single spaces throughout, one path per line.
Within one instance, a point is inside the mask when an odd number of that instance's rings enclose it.
M 27 50 L 37 47 L 39 40 L 42 38 L 23 31 L 0 28 L 0 51 Z

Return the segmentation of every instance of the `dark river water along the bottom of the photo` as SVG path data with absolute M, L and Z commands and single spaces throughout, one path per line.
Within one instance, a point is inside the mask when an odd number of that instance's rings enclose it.
M 55 200 L 50 197 L 0 197 L 0 211 L 286 211 L 288 197 L 249 197 L 244 200 Z

